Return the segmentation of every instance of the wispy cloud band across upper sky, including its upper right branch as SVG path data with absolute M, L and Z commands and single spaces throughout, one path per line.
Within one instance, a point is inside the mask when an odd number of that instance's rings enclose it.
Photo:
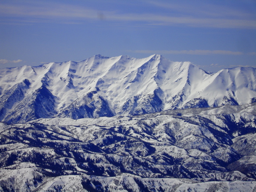
M 88 8 L 85 6 L 74 6 L 68 4 L 55 3 L 44 4 L 0 4 L 0 15 L 20 18 L 27 21 L 36 20 L 37 22 L 62 22 L 80 23 L 85 20 L 105 20 L 107 22 L 140 22 L 144 25 L 165 25 L 165 26 L 189 26 L 189 27 L 211 27 L 211 28 L 254 28 L 256 20 L 251 14 L 235 10 L 217 7 L 212 9 L 189 8 L 175 4 L 155 3 L 158 6 L 165 6 L 170 10 L 176 10 L 178 14 L 172 12 L 164 13 L 122 13 L 118 10 L 102 11 Z M 220 10 L 221 9 L 221 10 Z M 204 11 L 203 11 L 204 10 Z M 213 11 L 215 10 L 215 11 Z M 218 11 L 216 11 L 218 10 Z M 29 18 L 29 19 L 28 19 Z

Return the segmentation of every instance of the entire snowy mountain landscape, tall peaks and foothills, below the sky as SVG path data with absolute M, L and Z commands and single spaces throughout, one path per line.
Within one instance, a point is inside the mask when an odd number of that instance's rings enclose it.
M 255 192 L 255 101 L 160 55 L 0 69 L 0 192 Z

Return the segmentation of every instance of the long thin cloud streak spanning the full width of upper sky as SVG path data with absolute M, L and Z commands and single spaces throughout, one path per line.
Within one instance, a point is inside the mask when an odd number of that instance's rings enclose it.
M 182 12 L 182 10 L 180 10 Z M 85 20 L 101 20 L 102 15 L 106 22 L 142 22 L 144 25 L 163 26 L 189 26 L 207 28 L 253 28 L 256 29 L 256 20 L 241 18 L 214 18 L 204 17 L 204 14 L 166 16 L 164 14 L 121 14 L 111 11 L 100 11 L 81 6 L 71 6 L 67 4 L 53 4 L 51 7 L 44 4 L 30 5 L 9 5 L 0 4 L 0 15 L 18 17 L 21 20 L 30 18 L 37 22 L 47 22 L 47 20 L 62 23 L 68 21 L 81 22 Z M 42 21 L 38 19 L 43 19 Z M 47 20 L 44 20 L 47 19 Z M 57 21 L 56 21 L 57 20 Z M 48 21 L 49 22 L 49 21 Z

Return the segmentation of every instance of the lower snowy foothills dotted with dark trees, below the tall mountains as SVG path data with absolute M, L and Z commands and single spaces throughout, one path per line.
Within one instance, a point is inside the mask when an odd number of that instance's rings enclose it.
M 0 191 L 256 191 L 256 106 L 0 124 Z

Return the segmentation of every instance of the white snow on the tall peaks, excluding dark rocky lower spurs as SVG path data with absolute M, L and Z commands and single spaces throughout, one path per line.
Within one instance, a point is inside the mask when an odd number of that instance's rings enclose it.
M 208 74 L 190 62 L 173 62 L 157 54 L 142 59 L 95 55 L 80 62 L 0 69 L 0 98 L 25 79 L 30 85 L 22 90 L 24 98 L 44 84 L 55 98 L 56 115 L 71 104 L 79 108 L 85 102 L 83 96 L 92 91 L 97 92 L 93 96 L 95 101 L 102 97 L 117 115 L 134 113 L 134 108 L 140 114 L 143 110 L 200 107 L 204 100 L 210 107 L 242 105 L 256 98 L 255 68 L 239 67 Z M 156 105 L 158 109 L 153 109 L 150 103 L 154 95 L 162 102 L 161 106 Z M 9 104 L 6 115 L 17 110 L 19 102 Z

